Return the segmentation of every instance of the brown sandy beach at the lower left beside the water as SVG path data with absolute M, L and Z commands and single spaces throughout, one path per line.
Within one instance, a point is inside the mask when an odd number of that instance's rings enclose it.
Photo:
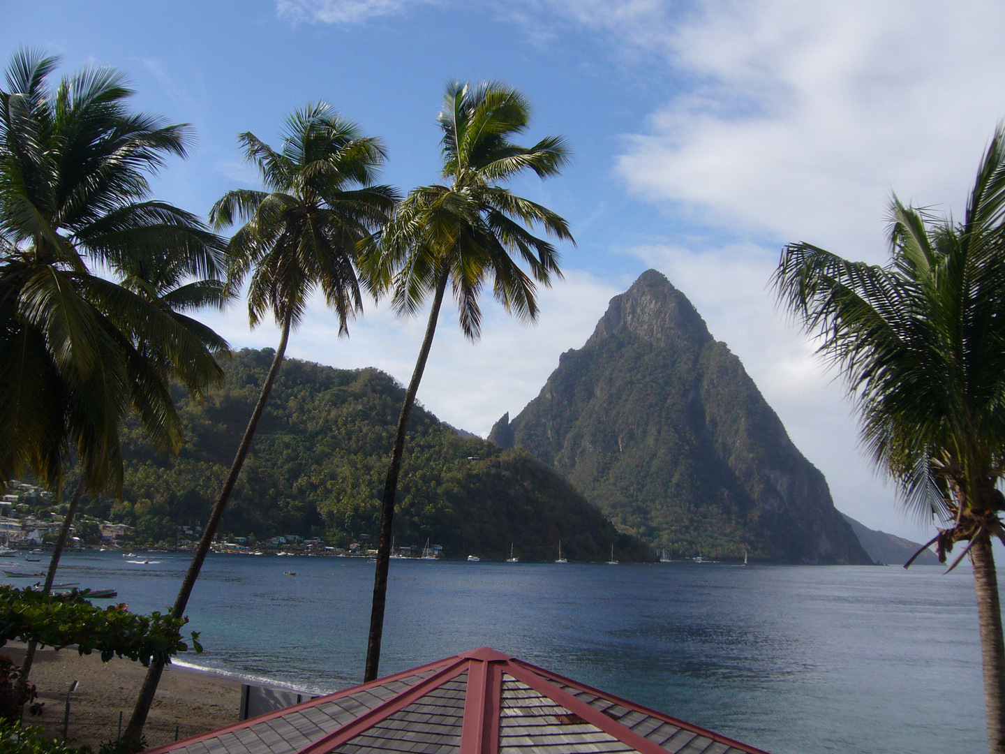
M 10 642 L 0 648 L 20 665 L 24 644 Z M 102 663 L 96 652 L 79 655 L 74 648 L 40 649 L 35 653 L 30 681 L 45 702 L 40 717 L 25 713 L 25 724 L 41 725 L 47 735 L 62 738 L 66 690 L 75 680 L 80 685 L 70 695 L 69 743 L 89 745 L 95 752 L 103 741 L 119 736 L 119 713 L 123 728 L 129 723 L 147 669 L 139 663 L 114 657 Z M 168 666 L 157 690 L 145 733 L 150 747 L 178 737 L 187 738 L 237 722 L 241 685 L 177 666 Z

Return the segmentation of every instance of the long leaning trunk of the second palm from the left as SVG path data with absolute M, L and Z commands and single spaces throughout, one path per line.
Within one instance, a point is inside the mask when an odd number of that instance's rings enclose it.
M 192 562 L 189 564 L 188 572 L 185 574 L 185 580 L 182 581 L 182 588 L 179 589 L 178 596 L 175 598 L 175 605 L 171 608 L 171 615 L 173 617 L 180 618 L 185 614 L 185 608 L 188 606 L 192 588 L 195 586 L 196 579 L 199 578 L 199 571 L 202 569 L 202 564 L 206 560 L 209 548 L 213 544 L 213 538 L 216 536 L 220 519 L 223 517 L 227 502 L 230 500 L 230 494 L 237 483 L 241 466 L 244 465 L 244 458 L 247 457 L 248 450 L 251 447 L 251 440 L 254 438 L 255 429 L 258 428 L 258 420 L 261 419 L 261 414 L 265 410 L 265 404 L 268 402 L 268 394 L 272 391 L 272 385 L 279 374 L 279 367 L 282 366 L 282 357 L 286 352 L 286 342 L 289 340 L 291 321 L 292 316 L 287 314 L 286 319 L 282 323 L 282 337 L 279 338 L 279 346 L 275 350 L 272 366 L 269 367 L 268 374 L 265 376 L 265 382 L 261 386 L 258 402 L 255 403 L 254 411 L 251 412 L 251 418 L 248 420 L 247 428 L 241 437 L 241 443 L 237 447 L 237 454 L 234 455 L 234 460 L 230 464 L 230 472 L 223 483 L 223 489 L 220 490 L 220 495 L 216 499 L 216 505 L 213 506 L 209 521 L 202 532 L 202 538 L 199 540 L 198 547 L 196 547 L 195 555 L 192 556 Z M 163 673 L 164 663 L 152 659 L 150 668 L 147 669 L 147 677 L 143 681 L 143 688 L 140 689 L 140 696 L 136 701 L 136 707 L 133 708 L 133 717 L 130 718 L 126 733 L 123 734 L 126 751 L 140 751 L 143 727 L 147 724 L 147 715 L 150 714 L 150 708 L 154 704 L 154 695 L 157 694 L 157 687 L 161 682 L 161 675 Z

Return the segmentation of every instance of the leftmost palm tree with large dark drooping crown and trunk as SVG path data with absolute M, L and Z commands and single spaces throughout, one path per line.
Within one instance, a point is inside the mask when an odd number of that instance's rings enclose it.
M 168 381 L 200 394 L 222 380 L 213 353 L 227 351 L 170 304 L 91 268 L 123 276 L 148 258 L 150 270 L 170 266 L 176 284 L 215 272 L 222 241 L 148 198 L 147 176 L 165 154 L 184 157 L 185 127 L 130 113 L 132 91 L 111 69 L 83 69 L 53 90 L 46 80 L 56 64 L 21 50 L 0 89 L 0 481 L 30 468 L 58 501 L 74 458 L 81 476 L 46 591 L 83 492 L 122 488 L 126 413 L 177 451 Z M 32 643 L 22 686 L 33 653 Z

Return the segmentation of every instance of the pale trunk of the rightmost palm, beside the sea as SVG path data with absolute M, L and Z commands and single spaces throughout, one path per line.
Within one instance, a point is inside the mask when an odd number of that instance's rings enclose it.
M 988 716 L 988 751 L 1005 754 L 1005 640 L 998 596 L 998 575 L 991 538 L 982 532 L 970 548 L 977 588 L 977 617 L 981 627 L 984 666 L 984 706 Z

